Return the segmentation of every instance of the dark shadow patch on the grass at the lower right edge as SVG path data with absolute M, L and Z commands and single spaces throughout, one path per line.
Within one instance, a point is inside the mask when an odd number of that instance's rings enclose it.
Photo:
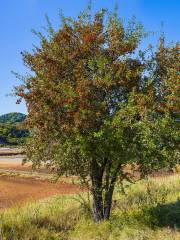
M 169 227 L 180 230 L 180 199 L 169 204 L 158 204 L 148 209 L 152 227 Z

